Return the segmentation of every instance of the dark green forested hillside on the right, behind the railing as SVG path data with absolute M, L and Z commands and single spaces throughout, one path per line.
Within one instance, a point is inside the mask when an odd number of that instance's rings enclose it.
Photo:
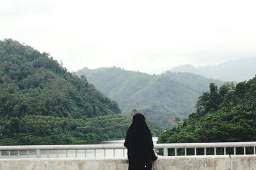
M 158 143 L 230 142 L 256 140 L 256 77 L 218 89 L 210 84 L 196 103 L 195 113 L 166 130 Z

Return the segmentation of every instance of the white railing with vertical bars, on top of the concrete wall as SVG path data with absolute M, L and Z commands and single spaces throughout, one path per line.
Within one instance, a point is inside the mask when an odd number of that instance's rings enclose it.
M 157 152 L 163 150 L 164 156 L 171 156 L 168 153 L 173 153 L 173 156 L 191 155 L 191 150 L 193 150 L 193 155 L 255 155 L 256 142 L 237 142 L 237 143 L 165 143 L 165 144 L 155 144 L 154 150 Z M 239 153 L 237 153 L 237 148 Z M 246 150 L 247 149 L 247 150 Z M 70 152 L 70 150 L 72 152 Z M 32 145 L 32 146 L 0 146 L 0 158 L 26 158 L 31 155 L 35 155 L 36 158 L 40 158 L 43 154 L 46 158 L 49 155 L 55 154 L 58 158 L 61 157 L 87 157 L 88 153 L 93 155 L 93 157 L 99 157 L 97 151 L 102 151 L 102 156 L 106 157 L 108 152 L 108 157 L 126 157 L 126 148 L 123 145 Z M 209 152 L 211 150 L 211 152 Z M 232 153 L 230 153 L 232 150 Z M 243 152 L 241 152 L 241 150 Z M 54 152 L 52 152 L 54 151 Z M 90 151 L 90 152 L 88 152 Z M 116 155 L 116 152 L 118 154 Z M 208 153 L 207 153 L 208 151 Z M 217 152 L 218 151 L 218 152 Z M 112 152 L 109 155 L 109 152 Z M 120 155 L 120 152 L 122 154 Z

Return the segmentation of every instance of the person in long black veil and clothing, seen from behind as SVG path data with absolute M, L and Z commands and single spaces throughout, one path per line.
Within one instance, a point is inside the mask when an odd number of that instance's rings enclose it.
M 152 162 L 157 159 L 154 153 L 152 135 L 145 122 L 145 117 L 137 113 L 132 118 L 124 146 L 128 150 L 129 170 L 152 169 Z

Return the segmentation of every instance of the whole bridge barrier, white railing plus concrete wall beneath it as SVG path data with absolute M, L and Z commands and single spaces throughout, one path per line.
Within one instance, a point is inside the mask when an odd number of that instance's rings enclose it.
M 153 169 L 252 170 L 255 146 L 256 142 L 156 144 L 154 149 L 164 156 L 158 157 Z M 127 150 L 122 145 L 0 146 L 0 151 L 0 170 L 128 169 Z

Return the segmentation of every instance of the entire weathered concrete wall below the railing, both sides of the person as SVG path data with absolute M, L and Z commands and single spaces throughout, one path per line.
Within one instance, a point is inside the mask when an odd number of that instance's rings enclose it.
M 256 170 L 256 155 L 159 157 L 154 170 Z M 0 170 L 127 170 L 127 159 L 0 159 Z

